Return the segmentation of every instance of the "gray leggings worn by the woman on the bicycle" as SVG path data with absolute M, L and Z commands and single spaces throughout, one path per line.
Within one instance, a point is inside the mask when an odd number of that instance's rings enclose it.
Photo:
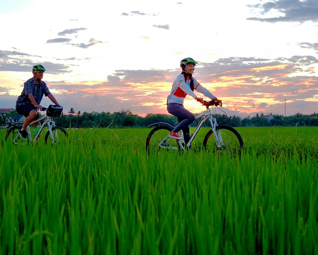
M 187 143 L 190 140 L 190 128 L 196 117 L 193 113 L 184 109 L 183 105 L 177 103 L 169 103 L 167 106 L 168 113 L 175 115 L 178 118 L 179 124 L 172 130 L 173 132 L 179 132 L 182 129 L 184 140 Z

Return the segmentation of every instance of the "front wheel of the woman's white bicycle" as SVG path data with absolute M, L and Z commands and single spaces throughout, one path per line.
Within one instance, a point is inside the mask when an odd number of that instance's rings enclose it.
M 239 157 L 241 156 L 241 150 L 243 149 L 243 139 L 238 131 L 236 131 L 234 128 L 230 126 L 217 126 L 216 132 L 221 132 L 223 144 L 221 144 L 221 148 L 218 148 L 212 129 L 209 130 L 209 132 L 205 135 L 204 141 L 203 141 L 203 147 L 205 150 L 210 150 L 216 153 L 217 151 L 220 151 L 221 153 L 226 152 L 229 155 Z M 212 136 L 211 136 L 212 135 Z M 210 138 L 210 139 L 209 139 Z

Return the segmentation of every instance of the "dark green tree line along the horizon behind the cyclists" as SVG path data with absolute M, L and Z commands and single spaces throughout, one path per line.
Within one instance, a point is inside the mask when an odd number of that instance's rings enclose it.
M 4 125 L 5 118 L 18 114 L 15 111 L 6 113 L 0 116 L 0 126 Z M 273 116 L 270 121 L 264 113 L 256 113 L 253 117 L 226 116 L 225 114 L 214 114 L 219 125 L 228 125 L 231 127 L 263 127 L 263 126 L 318 126 L 318 114 L 313 113 L 304 115 L 295 113 L 290 116 L 269 113 Z M 312 118 L 313 117 L 313 118 Z M 132 114 L 129 109 L 121 109 L 118 112 L 75 112 L 71 108 L 67 114 L 62 113 L 58 118 L 53 118 L 56 125 L 63 128 L 139 128 L 147 127 L 156 122 L 166 122 L 171 125 L 176 125 L 178 120 L 175 116 L 169 114 L 152 114 L 149 113 L 146 117 L 141 117 L 137 114 Z M 199 120 L 191 124 L 196 127 Z M 204 127 L 209 127 L 209 121 L 204 122 Z

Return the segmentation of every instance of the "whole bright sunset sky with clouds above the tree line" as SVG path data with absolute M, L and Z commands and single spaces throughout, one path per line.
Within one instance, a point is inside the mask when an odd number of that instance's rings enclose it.
M 0 0 L 0 24 L 0 108 L 42 64 L 64 112 L 168 114 L 191 57 L 229 116 L 318 112 L 317 0 Z M 204 110 L 190 96 L 184 106 Z

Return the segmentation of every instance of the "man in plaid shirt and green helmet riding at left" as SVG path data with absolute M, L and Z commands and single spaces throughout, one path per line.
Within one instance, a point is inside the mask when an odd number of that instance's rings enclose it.
M 55 105 L 61 106 L 51 94 L 45 82 L 42 81 L 45 71 L 46 69 L 42 65 L 33 66 L 33 77 L 24 83 L 23 91 L 16 102 L 17 112 L 26 117 L 23 127 L 18 132 L 23 139 L 28 136 L 28 132 L 26 131 L 27 126 L 38 116 L 37 109 L 42 111 L 40 103 L 43 95 L 50 98 Z M 34 128 L 36 128 L 39 124 L 40 122 L 34 123 Z

